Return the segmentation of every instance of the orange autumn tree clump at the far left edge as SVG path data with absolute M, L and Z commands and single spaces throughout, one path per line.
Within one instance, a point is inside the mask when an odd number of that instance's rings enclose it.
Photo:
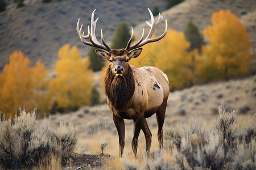
M 23 105 L 30 110 L 37 105 L 41 113 L 48 112 L 51 107 L 46 79 L 48 70 L 40 61 L 34 67 L 29 65 L 28 57 L 20 51 L 14 52 L 10 55 L 10 63 L 0 74 L 0 110 L 7 116 Z

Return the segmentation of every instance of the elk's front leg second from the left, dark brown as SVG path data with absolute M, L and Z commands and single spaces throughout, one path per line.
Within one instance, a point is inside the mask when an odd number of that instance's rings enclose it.
M 134 121 L 134 126 L 133 126 L 134 135 L 133 135 L 133 140 L 131 141 L 131 147 L 133 148 L 134 157 L 136 157 L 139 132 L 141 131 L 141 128 L 143 125 L 143 115 L 142 116 L 139 115 L 133 121 Z

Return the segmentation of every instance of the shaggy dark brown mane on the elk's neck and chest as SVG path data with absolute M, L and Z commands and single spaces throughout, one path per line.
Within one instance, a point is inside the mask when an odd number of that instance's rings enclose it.
M 109 65 L 104 78 L 106 96 L 118 110 L 125 110 L 130 106 L 135 90 L 133 70 L 128 66 L 125 72 L 123 76 L 115 76 Z

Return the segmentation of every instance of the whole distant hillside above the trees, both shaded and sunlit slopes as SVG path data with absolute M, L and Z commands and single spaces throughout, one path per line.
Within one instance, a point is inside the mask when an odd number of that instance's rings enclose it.
M 0 12 L 0 70 L 9 62 L 9 55 L 15 50 L 22 50 L 30 57 L 32 63 L 40 59 L 48 69 L 52 69 L 55 65 L 57 51 L 64 44 L 77 45 L 82 56 L 86 56 L 89 48 L 81 43 L 75 27 L 78 18 L 81 19 L 81 23 L 88 25 L 94 8 L 97 8 L 96 17 L 100 17 L 97 23 L 97 35 L 100 35 L 102 28 L 108 42 L 112 40 L 119 22 L 125 21 L 129 27 L 138 25 L 135 28 L 135 36 L 138 37 L 142 28 L 147 28 L 144 21 L 150 19 L 146 8 L 153 9 L 154 6 L 158 6 L 160 11 L 166 9 L 165 0 L 96 0 L 86 3 L 81 0 L 50 3 L 27 0 L 24 3 L 25 6 L 22 8 L 16 8 L 16 4 L 10 3 L 6 11 Z M 253 42 L 251 51 L 255 55 L 256 1 L 186 0 L 161 13 L 168 20 L 168 28 L 183 31 L 190 19 L 202 31 L 210 24 L 212 12 L 227 8 L 241 18 L 241 22 L 250 33 Z M 160 24 L 158 31 L 162 32 L 163 27 L 164 24 Z

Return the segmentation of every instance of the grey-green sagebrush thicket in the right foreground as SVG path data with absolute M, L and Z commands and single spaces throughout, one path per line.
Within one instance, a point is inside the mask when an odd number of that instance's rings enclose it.
M 124 169 L 256 169 L 256 119 L 246 129 L 236 126 L 236 111 L 218 107 L 220 116 L 204 127 L 196 119 L 164 132 L 165 147 L 150 159 L 135 164 L 126 160 Z M 164 156 L 170 155 L 171 160 Z M 143 162 L 143 163 L 142 163 Z

